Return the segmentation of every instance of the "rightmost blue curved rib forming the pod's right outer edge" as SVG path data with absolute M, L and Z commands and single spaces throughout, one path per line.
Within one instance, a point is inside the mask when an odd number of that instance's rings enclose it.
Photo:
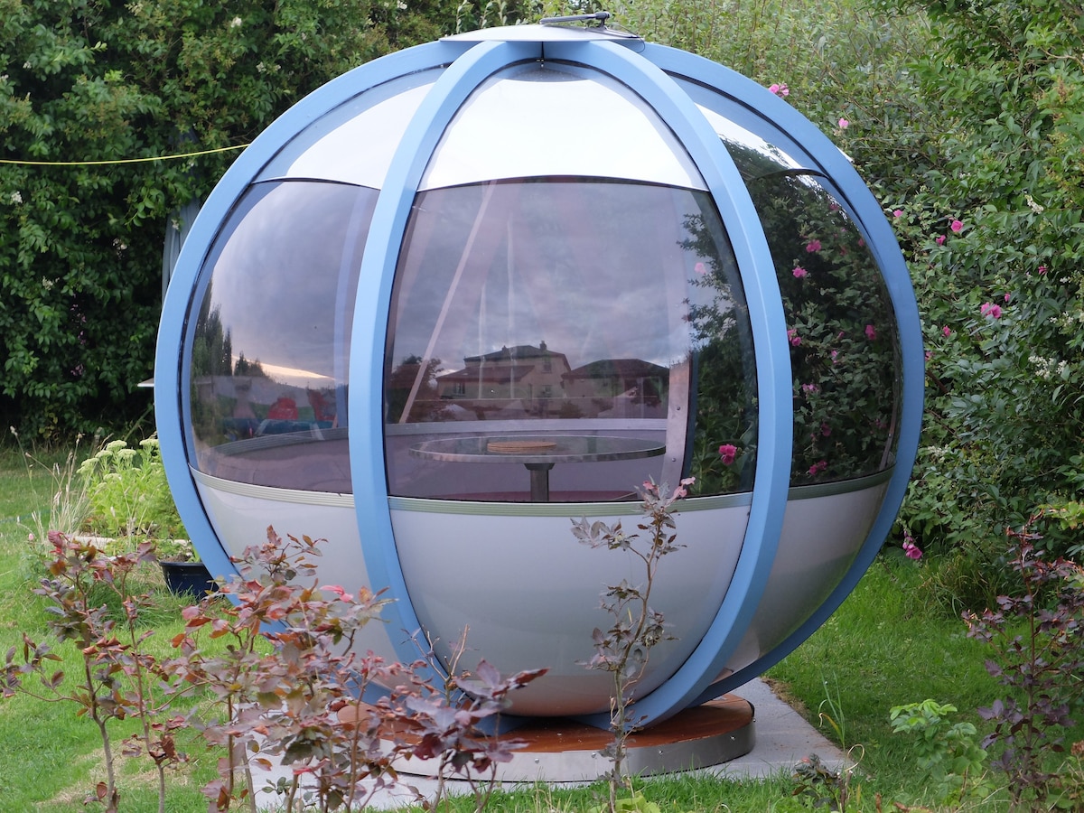
M 918 452 L 926 360 L 918 305 L 895 234 L 877 198 L 839 147 L 789 104 L 730 68 L 666 46 L 648 44 L 644 55 L 668 73 L 699 81 L 750 111 L 757 111 L 757 115 L 767 126 L 778 131 L 780 136 L 778 141 L 785 141 L 788 149 L 797 147 L 796 152 L 810 156 L 816 167 L 831 180 L 842 194 L 854 219 L 866 232 L 867 245 L 880 266 L 895 312 L 903 366 L 895 468 L 889 479 L 881 508 L 854 562 L 836 589 L 801 627 L 770 653 L 713 684 L 695 700 L 704 702 L 737 688 L 793 651 L 839 608 L 873 564 L 903 503 L 907 480 Z

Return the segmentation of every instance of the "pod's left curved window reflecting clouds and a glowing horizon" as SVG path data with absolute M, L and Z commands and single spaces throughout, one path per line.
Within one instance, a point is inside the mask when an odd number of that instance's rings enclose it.
M 212 246 L 190 313 L 190 456 L 238 482 L 346 493 L 347 370 L 376 191 L 254 185 Z

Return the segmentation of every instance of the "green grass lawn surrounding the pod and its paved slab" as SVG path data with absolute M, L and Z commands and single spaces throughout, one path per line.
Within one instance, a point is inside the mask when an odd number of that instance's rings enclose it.
M 47 635 L 42 601 L 33 589 L 43 575 L 30 555 L 27 533 L 30 515 L 48 509 L 65 454 L 43 461 L 29 473 L 17 452 L 0 452 L 0 651 L 21 646 L 23 631 Z M 679 522 L 679 534 L 681 527 Z M 999 696 L 986 674 L 983 644 L 965 635 L 963 622 L 932 604 L 924 589 L 927 568 L 906 559 L 879 560 L 841 609 L 804 645 L 773 668 L 767 678 L 805 717 L 859 763 L 851 778 L 848 810 L 873 811 L 877 795 L 883 809 L 892 801 L 930 804 L 909 741 L 891 733 L 888 714 L 893 706 L 932 698 L 951 702 L 955 719 L 983 723 L 976 709 Z M 147 579 L 153 582 L 154 576 Z M 149 582 L 149 583 L 150 583 Z M 180 605 L 162 593 L 163 612 L 154 641 L 160 654 L 181 629 Z M 830 719 L 830 720 L 829 720 Z M 199 786 L 215 777 L 217 754 L 189 733 L 182 745 L 193 761 L 171 775 L 169 810 L 207 810 Z M 122 739 L 118 734 L 116 739 Z M 1080 728 L 1068 741 L 1084 739 Z M 0 700 L 0 810 L 82 811 L 83 797 L 101 775 L 100 740 L 92 723 L 77 719 L 66 704 L 48 704 L 26 696 Z M 121 763 L 121 810 L 154 810 L 153 771 L 142 760 Z M 992 774 L 997 784 L 1001 775 Z M 647 798 L 663 811 L 786 811 L 801 810 L 791 798 L 788 776 L 767 780 L 732 782 L 678 775 L 645 783 Z M 528 787 L 498 793 L 490 810 L 585 811 L 595 806 L 598 788 L 556 790 Z M 455 810 L 473 810 L 467 799 Z M 985 801 L 968 800 L 944 810 L 1007 810 L 1006 795 Z M 91 808 L 93 809 L 93 808 Z

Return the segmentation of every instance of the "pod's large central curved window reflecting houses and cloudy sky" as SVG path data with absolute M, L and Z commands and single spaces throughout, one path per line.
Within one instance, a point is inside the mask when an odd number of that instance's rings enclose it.
M 389 493 L 620 500 L 691 473 L 696 494 L 743 488 L 718 450 L 756 443 L 749 335 L 706 192 L 584 178 L 423 192 L 392 289 Z

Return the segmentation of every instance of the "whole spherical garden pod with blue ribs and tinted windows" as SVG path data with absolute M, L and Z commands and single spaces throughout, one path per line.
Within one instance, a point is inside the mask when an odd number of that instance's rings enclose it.
M 387 588 L 518 715 L 605 726 L 605 585 L 579 543 L 695 477 L 636 715 L 777 661 L 882 543 L 919 433 L 903 258 L 847 157 L 769 90 L 603 27 L 449 37 L 304 99 L 235 162 L 173 274 L 156 363 L 170 486 L 212 572 L 266 528 Z M 366 628 L 370 629 L 370 628 Z

